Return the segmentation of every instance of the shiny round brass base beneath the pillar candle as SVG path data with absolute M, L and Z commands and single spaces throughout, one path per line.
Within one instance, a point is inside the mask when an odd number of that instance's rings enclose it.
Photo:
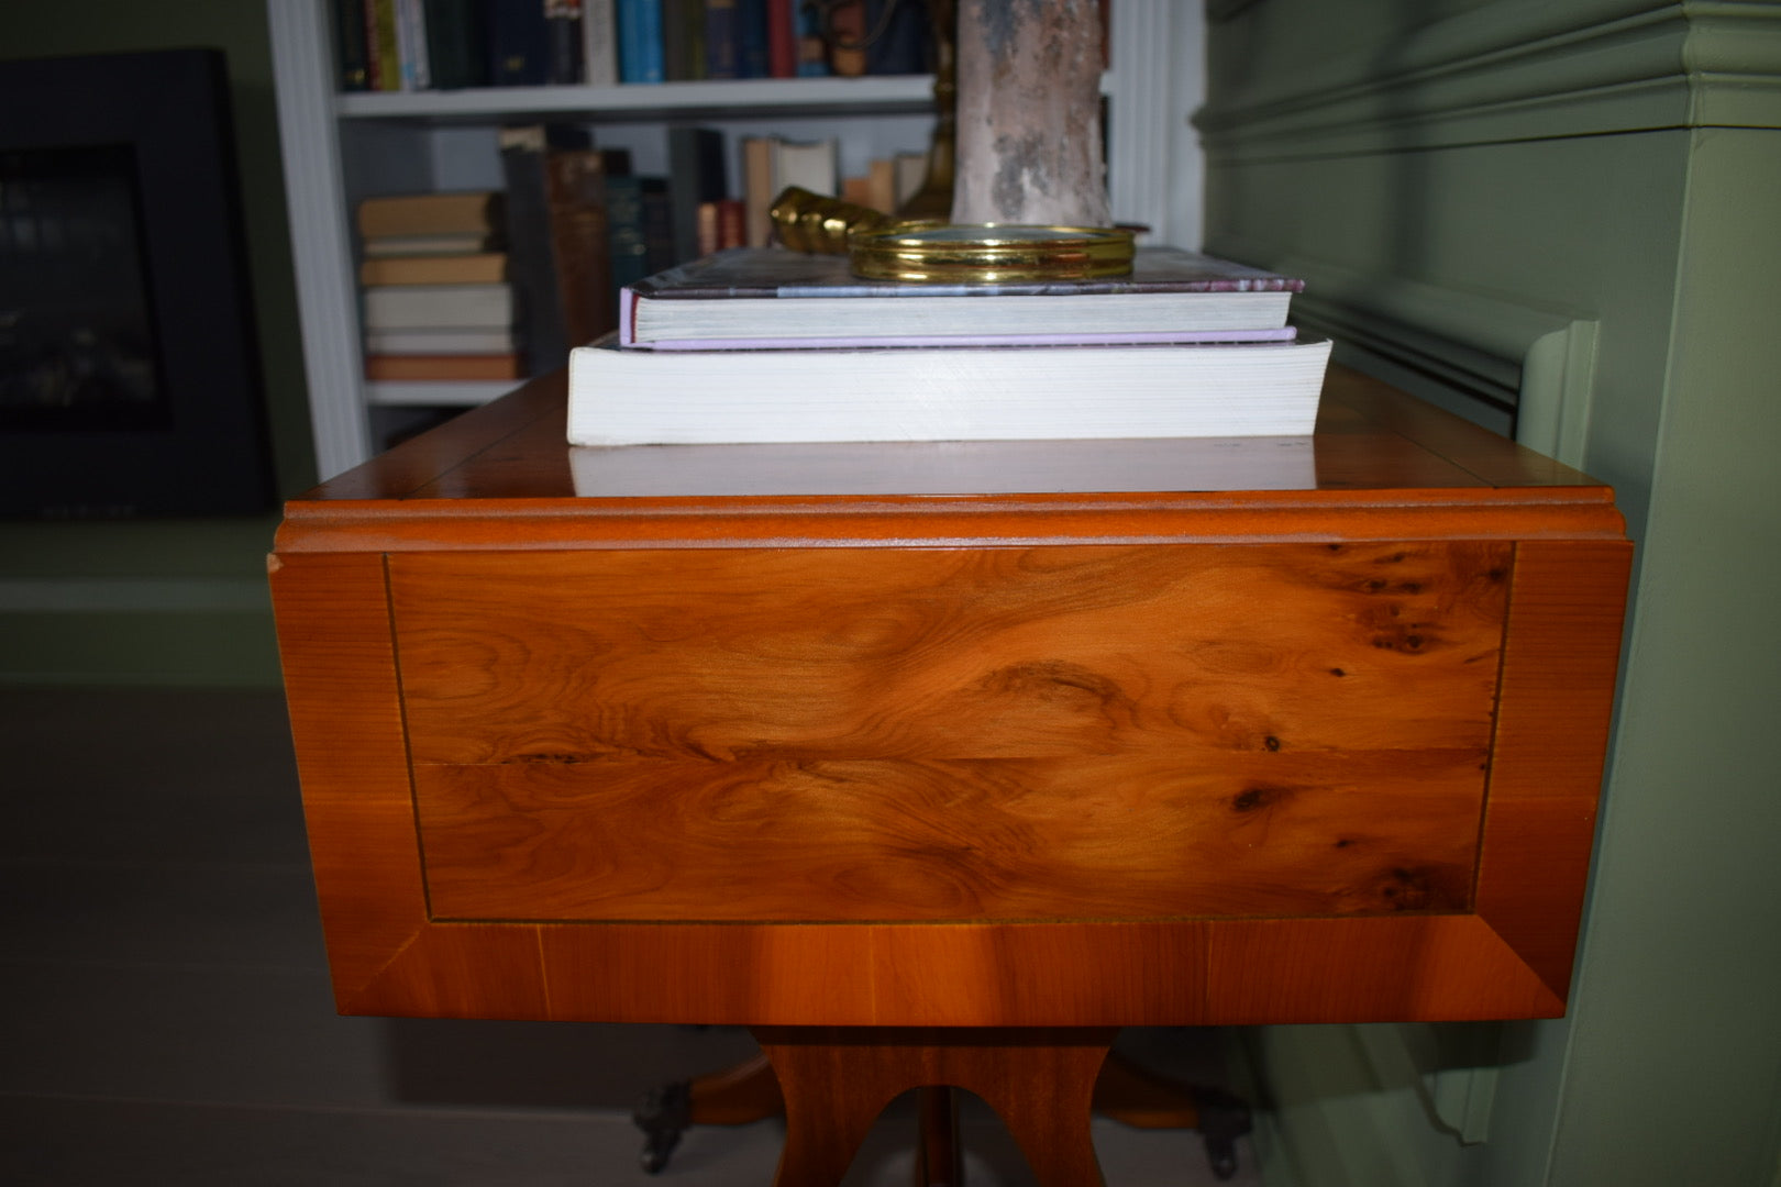
M 866 279 L 1008 283 L 1131 272 L 1133 231 L 1094 226 L 887 226 L 848 237 L 848 267 Z

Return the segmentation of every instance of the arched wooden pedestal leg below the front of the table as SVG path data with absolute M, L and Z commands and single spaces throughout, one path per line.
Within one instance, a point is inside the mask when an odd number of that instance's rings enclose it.
M 759 1027 L 785 1093 L 775 1187 L 835 1187 L 887 1103 L 962 1087 L 1001 1114 L 1038 1187 L 1101 1183 L 1090 1137 L 1111 1029 Z

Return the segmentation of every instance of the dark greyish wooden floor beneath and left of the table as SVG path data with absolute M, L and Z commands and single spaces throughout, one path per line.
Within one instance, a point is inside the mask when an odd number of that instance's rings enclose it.
M 638 1167 L 630 1107 L 748 1055 L 741 1030 L 338 1018 L 278 694 L 0 689 L 0 771 L 7 1183 L 769 1182 L 775 1121 Z M 1216 1032 L 1120 1045 L 1222 1075 Z M 894 1107 L 848 1187 L 907 1187 L 912 1137 Z M 992 1116 L 965 1143 L 974 1187 L 1028 1182 Z M 1097 1119 L 1095 1144 L 1110 1187 L 1216 1182 L 1197 1134 Z

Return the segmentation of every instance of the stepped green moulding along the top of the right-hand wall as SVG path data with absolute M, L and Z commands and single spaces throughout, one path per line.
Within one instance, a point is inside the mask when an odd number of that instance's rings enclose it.
M 1240 37 L 1291 69 L 1220 89 L 1241 68 L 1211 61 L 1193 117 L 1209 162 L 1781 126 L 1781 4 L 1492 4 L 1366 59 L 1284 43 L 1266 4 L 1241 14 Z

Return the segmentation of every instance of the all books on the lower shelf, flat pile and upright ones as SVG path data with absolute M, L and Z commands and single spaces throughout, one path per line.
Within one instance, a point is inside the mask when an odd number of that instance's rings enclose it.
M 378 381 L 524 379 L 616 327 L 618 294 L 677 263 L 768 242 L 777 194 L 800 185 L 890 212 L 926 157 L 842 180 L 834 139 L 748 137 L 732 196 L 721 132 L 666 130 L 668 176 L 573 125 L 499 130 L 500 192 L 397 194 L 358 208 L 365 372 Z

